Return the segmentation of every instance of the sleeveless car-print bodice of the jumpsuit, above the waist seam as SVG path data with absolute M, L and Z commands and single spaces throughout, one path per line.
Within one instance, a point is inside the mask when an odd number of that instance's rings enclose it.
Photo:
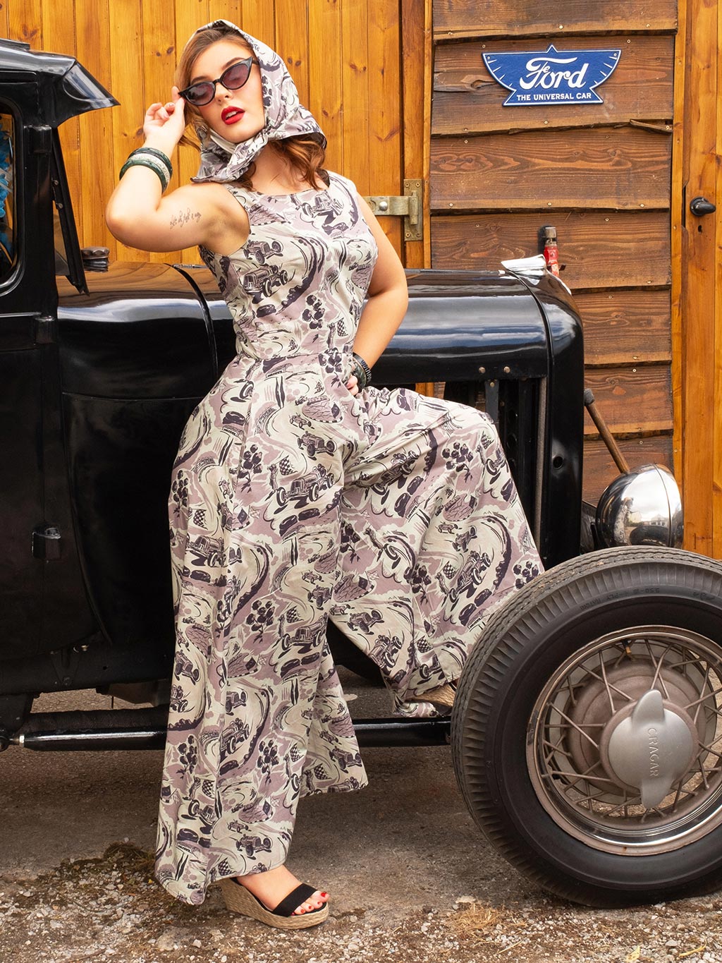
M 233 316 L 239 355 L 322 355 L 348 365 L 377 248 L 353 185 L 264 195 L 226 185 L 250 234 L 228 255 L 200 248 Z

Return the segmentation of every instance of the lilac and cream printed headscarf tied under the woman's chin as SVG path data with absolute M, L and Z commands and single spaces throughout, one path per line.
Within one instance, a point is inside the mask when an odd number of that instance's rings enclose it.
M 196 123 L 195 129 L 201 148 L 200 167 L 191 180 L 218 181 L 221 184 L 238 180 L 269 141 L 282 141 L 287 137 L 303 135 L 313 138 L 325 147 L 326 139 L 321 127 L 313 115 L 299 104 L 296 84 L 278 54 L 261 40 L 246 34 L 230 20 L 213 20 L 196 30 L 193 37 L 212 28 L 235 31 L 253 51 L 261 70 L 266 124 L 262 131 L 249 140 L 231 143 L 215 131 L 209 130 L 205 124 Z

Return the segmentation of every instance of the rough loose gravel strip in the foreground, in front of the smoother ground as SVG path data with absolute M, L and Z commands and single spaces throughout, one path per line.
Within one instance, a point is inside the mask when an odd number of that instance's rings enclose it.
M 152 855 L 110 846 L 0 886 L 0 959 L 8 963 L 720 963 L 722 898 L 590 910 L 543 896 L 495 905 L 461 896 L 384 924 L 359 907 L 293 934 L 229 915 L 216 888 L 199 908 L 152 877 Z

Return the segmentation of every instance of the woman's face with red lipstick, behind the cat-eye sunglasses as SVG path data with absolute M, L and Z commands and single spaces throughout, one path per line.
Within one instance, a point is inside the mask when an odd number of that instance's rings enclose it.
M 191 84 L 215 80 L 232 64 L 250 56 L 250 51 L 233 40 L 219 40 L 203 51 L 191 71 Z M 263 130 L 266 115 L 261 91 L 261 70 L 252 65 L 250 76 L 237 91 L 227 91 L 216 84 L 216 95 L 210 104 L 195 108 L 203 121 L 226 141 L 241 143 Z

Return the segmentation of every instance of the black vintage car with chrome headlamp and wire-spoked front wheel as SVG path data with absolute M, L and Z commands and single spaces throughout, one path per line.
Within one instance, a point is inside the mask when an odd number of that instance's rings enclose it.
M 205 270 L 79 248 L 58 127 L 114 103 L 72 58 L 0 42 L 0 749 L 163 744 L 169 470 L 234 351 Z M 408 282 L 375 380 L 439 382 L 485 406 L 548 571 L 491 619 L 451 720 L 359 720 L 360 742 L 451 740 L 480 828 L 561 896 L 709 891 L 722 882 L 722 565 L 663 547 L 679 517 L 655 467 L 612 484 L 593 528 L 612 547 L 580 554 L 582 341 L 558 280 L 523 265 Z M 32 712 L 40 692 L 89 689 L 135 708 Z

